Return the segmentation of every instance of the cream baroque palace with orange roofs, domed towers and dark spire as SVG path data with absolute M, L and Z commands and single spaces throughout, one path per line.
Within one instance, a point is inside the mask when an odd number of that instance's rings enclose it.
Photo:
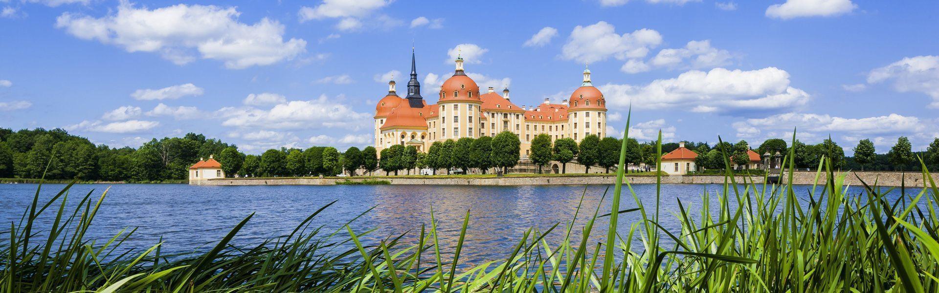
M 428 104 L 421 96 L 417 81 L 414 53 L 408 95 L 397 94 L 394 81 L 388 83 L 388 95 L 375 106 L 375 146 L 382 149 L 393 145 L 415 146 L 426 152 L 431 144 L 461 137 L 495 136 L 511 131 L 521 141 L 521 156 L 528 157 L 531 139 L 541 133 L 551 141 L 570 137 L 578 143 L 588 134 L 603 138 L 607 133 L 607 101 L 591 83 L 591 72 L 585 69 L 583 82 L 560 104 L 545 101 L 538 106 L 519 107 L 509 98 L 509 89 L 500 96 L 489 87 L 485 94 L 463 70 L 463 58 L 457 56 L 454 75 L 440 86 L 439 100 Z

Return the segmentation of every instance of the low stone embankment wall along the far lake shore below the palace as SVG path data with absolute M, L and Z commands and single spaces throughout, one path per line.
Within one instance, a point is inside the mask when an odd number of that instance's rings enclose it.
M 787 172 L 788 174 L 788 172 Z M 856 177 L 855 177 L 856 175 Z M 793 184 L 810 185 L 816 183 L 824 184 L 825 174 L 817 172 L 794 172 Z M 847 185 L 861 185 L 864 180 L 870 185 L 876 181 L 878 186 L 901 186 L 924 187 L 924 181 L 921 173 L 917 172 L 851 172 L 845 177 Z M 334 185 L 337 182 L 345 181 L 364 181 L 364 180 L 383 180 L 393 185 L 593 185 L 593 184 L 611 184 L 615 181 L 614 174 L 603 175 L 513 175 L 506 177 L 481 177 L 481 176 L 377 176 L 377 177 L 255 177 L 255 178 L 219 178 L 207 180 L 192 180 L 192 185 L 215 185 L 215 186 L 240 186 L 240 185 Z M 631 184 L 654 184 L 655 177 L 648 174 L 639 174 L 636 176 L 623 177 Z M 762 176 L 750 177 L 757 183 L 762 183 Z M 721 184 L 724 183 L 723 176 L 710 175 L 686 175 L 686 176 L 663 176 L 664 184 Z M 737 182 L 743 182 L 745 176 L 738 175 Z M 782 177 L 782 180 L 787 180 Z M 932 175 L 932 180 L 939 182 L 939 175 Z

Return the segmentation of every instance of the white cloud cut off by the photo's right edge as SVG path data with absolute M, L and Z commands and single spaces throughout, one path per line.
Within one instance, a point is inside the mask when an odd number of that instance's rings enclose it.
M 905 57 L 879 69 L 870 70 L 868 83 L 893 81 L 899 92 L 919 92 L 932 98 L 930 108 L 939 108 L 939 56 Z

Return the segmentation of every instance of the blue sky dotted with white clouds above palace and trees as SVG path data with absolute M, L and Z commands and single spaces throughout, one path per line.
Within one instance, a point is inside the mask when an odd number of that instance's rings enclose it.
M 901 5 L 899 5 L 901 4 Z M 939 136 L 936 1 L 0 0 L 0 127 L 109 146 L 201 132 L 249 153 L 372 144 L 413 42 L 424 97 L 460 48 L 481 86 L 560 102 L 589 62 L 609 125 L 716 142 Z M 395 79 L 406 82 L 398 73 Z M 435 98 L 428 102 L 436 102 Z M 619 119 L 617 119 L 619 117 Z M 612 132 L 612 131 L 610 131 Z M 788 139 L 787 139 L 788 140 Z

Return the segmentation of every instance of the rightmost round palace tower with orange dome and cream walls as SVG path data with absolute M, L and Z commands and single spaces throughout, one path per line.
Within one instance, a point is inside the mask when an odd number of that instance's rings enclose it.
M 607 100 L 591 83 L 590 69 L 584 69 L 583 84 L 568 100 L 567 117 L 569 137 L 577 142 L 589 134 L 607 135 Z

